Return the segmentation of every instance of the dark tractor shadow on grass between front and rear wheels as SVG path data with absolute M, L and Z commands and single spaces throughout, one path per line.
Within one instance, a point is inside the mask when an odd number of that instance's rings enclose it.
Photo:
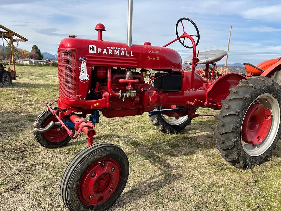
M 158 131 L 155 132 L 160 133 Z M 191 138 L 193 141 L 190 140 Z M 209 143 L 200 142 L 206 138 L 206 134 L 196 136 L 195 132 L 186 130 L 180 136 L 171 135 L 165 143 L 149 144 L 146 140 L 137 140 L 137 138 L 130 135 L 98 135 L 96 137 L 98 139 L 97 142 L 105 142 L 108 139 L 120 140 L 120 145 L 118 145 L 127 151 L 126 154 L 129 162 L 134 162 L 134 158 L 141 156 L 143 160 L 148 161 L 151 166 L 155 166 L 157 171 L 160 170 L 161 172 L 130 187 L 130 190 L 120 196 L 117 205 L 123 207 L 128 203 L 138 201 L 183 178 L 181 173 L 171 173 L 184 168 L 181 165 L 180 159 L 178 164 L 175 165 L 167 161 L 168 157 L 175 157 L 175 159 L 177 157 L 186 157 L 188 159 L 188 156 L 195 153 L 213 149 L 215 147 L 215 139 L 208 140 L 210 141 Z M 80 143 L 79 141 L 77 144 Z M 72 144 L 75 144 L 75 142 L 72 142 Z

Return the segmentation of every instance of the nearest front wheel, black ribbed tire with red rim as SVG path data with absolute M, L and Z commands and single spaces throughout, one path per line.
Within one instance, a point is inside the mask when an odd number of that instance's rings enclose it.
M 67 165 L 60 183 L 60 196 L 71 211 L 110 208 L 123 192 L 129 162 L 119 147 L 93 144 L 80 151 Z

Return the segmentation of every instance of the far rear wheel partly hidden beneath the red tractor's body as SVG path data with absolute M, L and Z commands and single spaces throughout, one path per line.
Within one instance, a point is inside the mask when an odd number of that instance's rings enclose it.
M 155 107 L 156 109 L 160 109 L 160 106 Z M 196 111 L 197 107 L 194 108 Z M 179 133 L 184 130 L 187 125 L 191 124 L 192 118 L 188 118 L 187 116 L 181 116 L 179 118 L 170 118 L 165 114 L 147 114 L 149 120 L 153 127 L 161 131 L 162 133 Z

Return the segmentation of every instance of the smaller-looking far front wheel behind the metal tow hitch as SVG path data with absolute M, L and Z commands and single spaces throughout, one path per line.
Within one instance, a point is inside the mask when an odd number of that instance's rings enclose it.
M 55 107 L 53 110 L 59 109 L 58 107 Z M 49 109 L 40 113 L 35 120 L 35 122 L 39 122 L 39 128 L 46 127 L 51 121 L 58 122 L 57 118 Z M 71 137 L 68 135 L 67 131 L 61 127 L 57 129 L 50 129 L 45 133 L 34 133 L 34 137 L 41 146 L 49 149 L 62 147 L 71 140 Z

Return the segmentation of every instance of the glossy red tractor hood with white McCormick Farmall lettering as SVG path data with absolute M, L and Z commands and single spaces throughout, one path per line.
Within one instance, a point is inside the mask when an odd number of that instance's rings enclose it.
M 79 57 L 85 57 L 87 67 L 123 67 L 144 69 L 182 69 L 182 58 L 170 48 L 144 45 L 128 47 L 126 43 L 101 40 L 65 38 L 60 41 L 58 51 L 76 50 Z M 78 62 L 78 61 L 77 61 Z M 79 64 L 80 66 L 80 64 Z

